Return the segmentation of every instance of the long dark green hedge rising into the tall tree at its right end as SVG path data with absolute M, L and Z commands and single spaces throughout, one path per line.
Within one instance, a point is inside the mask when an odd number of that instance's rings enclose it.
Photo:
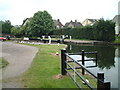
M 64 28 L 54 30 L 55 35 L 69 35 L 74 39 L 89 39 L 99 41 L 115 40 L 115 23 L 100 19 L 94 25 L 79 28 Z

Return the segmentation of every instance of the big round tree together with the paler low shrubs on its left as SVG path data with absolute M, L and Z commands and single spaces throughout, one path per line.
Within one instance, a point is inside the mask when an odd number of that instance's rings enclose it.
M 17 37 L 41 37 L 54 29 L 52 16 L 47 11 L 38 11 L 21 27 L 13 27 L 11 33 Z

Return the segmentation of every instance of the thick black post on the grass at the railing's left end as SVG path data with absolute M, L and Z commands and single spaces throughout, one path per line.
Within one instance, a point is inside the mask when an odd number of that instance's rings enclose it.
M 65 63 L 65 61 L 66 61 L 65 53 L 66 53 L 66 50 L 62 49 L 61 50 L 61 74 L 62 75 L 66 75 L 66 73 L 67 73 L 66 70 L 65 70 L 65 68 L 67 68 L 67 65 Z

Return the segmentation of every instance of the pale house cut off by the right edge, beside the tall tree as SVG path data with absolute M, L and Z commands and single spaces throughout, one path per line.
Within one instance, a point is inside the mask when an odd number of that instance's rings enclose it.
M 120 15 L 116 15 L 113 22 L 115 22 L 115 34 L 120 35 Z

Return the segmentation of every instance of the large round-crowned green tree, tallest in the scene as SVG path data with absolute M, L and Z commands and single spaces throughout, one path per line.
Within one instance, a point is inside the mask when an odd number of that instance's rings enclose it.
M 38 11 L 30 20 L 30 32 L 32 36 L 48 35 L 54 29 L 54 22 L 47 11 Z

